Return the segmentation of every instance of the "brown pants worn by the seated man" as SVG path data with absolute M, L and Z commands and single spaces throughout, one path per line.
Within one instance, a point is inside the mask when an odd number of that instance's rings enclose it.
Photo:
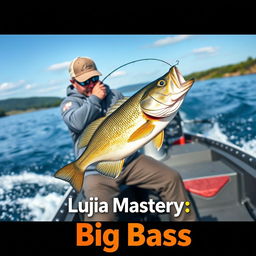
M 189 201 L 180 175 L 170 169 L 167 165 L 145 155 L 141 155 L 132 161 L 117 179 L 111 179 L 103 175 L 85 176 L 83 191 L 87 199 L 98 197 L 99 202 L 105 201 L 112 209 L 112 198 L 120 193 L 120 185 L 136 185 L 139 188 L 156 191 L 163 202 Z M 173 221 L 194 221 L 196 220 L 195 210 L 189 206 L 190 212 L 182 211 L 179 217 L 173 217 Z M 85 221 L 116 221 L 115 213 L 95 213 L 88 218 L 84 215 Z

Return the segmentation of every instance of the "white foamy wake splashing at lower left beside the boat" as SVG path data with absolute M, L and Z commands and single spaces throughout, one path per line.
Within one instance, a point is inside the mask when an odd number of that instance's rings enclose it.
M 50 221 L 69 185 L 49 175 L 0 176 L 0 220 Z

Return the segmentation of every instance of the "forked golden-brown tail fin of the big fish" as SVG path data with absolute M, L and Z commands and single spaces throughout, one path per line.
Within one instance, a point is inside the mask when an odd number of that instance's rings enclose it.
M 54 174 L 54 177 L 68 181 L 77 192 L 81 191 L 84 181 L 84 172 L 77 167 L 75 162 L 58 170 Z

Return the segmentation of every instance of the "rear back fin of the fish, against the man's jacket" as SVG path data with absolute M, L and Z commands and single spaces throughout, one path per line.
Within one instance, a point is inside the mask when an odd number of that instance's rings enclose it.
M 77 145 L 78 149 L 86 147 L 88 145 L 89 141 L 92 138 L 92 135 L 105 119 L 105 116 L 98 118 L 86 127 L 86 129 L 80 135 L 79 143 Z

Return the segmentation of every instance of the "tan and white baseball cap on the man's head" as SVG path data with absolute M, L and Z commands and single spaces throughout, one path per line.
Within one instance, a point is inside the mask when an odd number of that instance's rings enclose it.
M 88 57 L 77 57 L 69 65 L 70 77 L 75 78 L 78 82 L 88 80 L 93 76 L 101 76 L 97 70 L 95 62 Z

